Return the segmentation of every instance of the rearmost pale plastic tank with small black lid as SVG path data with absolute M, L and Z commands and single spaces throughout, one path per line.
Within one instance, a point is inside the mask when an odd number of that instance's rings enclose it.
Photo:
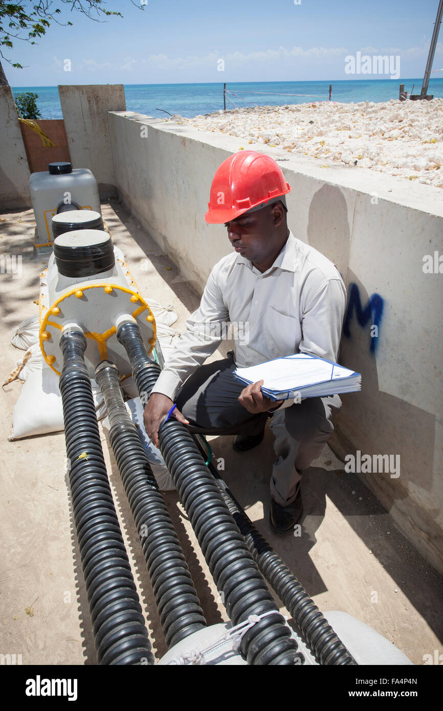
M 75 168 L 67 161 L 48 164 L 48 171 L 31 173 L 29 193 L 36 215 L 34 247 L 53 245 L 53 215 L 75 207 L 100 213 L 100 197 L 95 177 L 87 168 Z

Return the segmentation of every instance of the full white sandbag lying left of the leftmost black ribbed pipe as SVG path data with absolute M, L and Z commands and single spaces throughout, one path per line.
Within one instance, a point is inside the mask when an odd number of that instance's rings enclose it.
M 63 424 L 62 396 L 58 389 L 59 377 L 46 363 L 28 374 L 12 413 L 12 432 L 9 440 L 33 437 L 36 434 L 61 432 Z M 91 380 L 97 419 L 105 415 L 102 392 Z

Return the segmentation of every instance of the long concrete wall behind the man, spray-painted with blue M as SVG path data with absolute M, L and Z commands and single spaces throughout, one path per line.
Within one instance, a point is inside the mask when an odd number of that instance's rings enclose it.
M 422 268 L 443 252 L 442 191 L 133 112 L 110 114 L 110 139 L 124 203 L 200 292 L 231 250 L 223 226 L 203 218 L 218 165 L 240 146 L 279 161 L 292 185 L 290 228 L 338 265 L 348 288 L 340 362 L 362 373 L 363 390 L 343 396 L 331 445 L 343 459 L 400 455 L 400 476 L 359 476 L 443 571 L 443 277 Z

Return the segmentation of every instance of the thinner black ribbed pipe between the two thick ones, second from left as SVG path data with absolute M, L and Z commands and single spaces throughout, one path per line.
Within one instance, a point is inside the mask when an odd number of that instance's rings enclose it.
M 110 418 L 110 443 L 142 542 L 168 647 L 206 627 L 186 559 L 146 456 L 124 406 L 119 371 L 107 360 L 95 370 Z

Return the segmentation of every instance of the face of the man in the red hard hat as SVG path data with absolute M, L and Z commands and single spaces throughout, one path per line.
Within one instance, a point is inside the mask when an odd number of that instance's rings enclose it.
M 231 245 L 250 262 L 260 264 L 274 254 L 276 223 L 273 207 L 269 205 L 255 213 L 244 213 L 225 223 Z

